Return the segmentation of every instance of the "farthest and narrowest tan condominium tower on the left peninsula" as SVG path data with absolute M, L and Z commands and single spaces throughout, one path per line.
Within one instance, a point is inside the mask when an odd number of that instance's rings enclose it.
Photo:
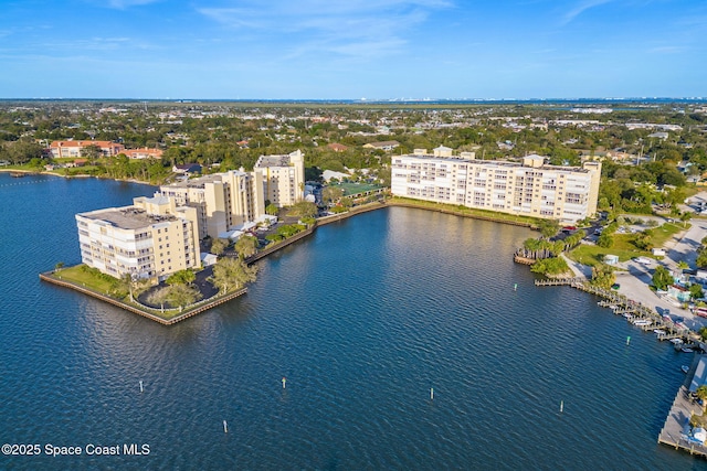
M 286 156 L 261 156 L 253 167 L 263 175 L 265 200 L 283 207 L 302 201 L 305 184 L 305 156 L 296 150 Z

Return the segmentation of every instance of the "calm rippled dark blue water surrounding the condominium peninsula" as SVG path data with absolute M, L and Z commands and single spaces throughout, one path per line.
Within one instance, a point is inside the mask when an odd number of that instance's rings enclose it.
M 150 450 L 0 469 L 705 469 L 656 443 L 689 358 L 534 287 L 527 229 L 368 213 L 171 328 L 40 283 L 80 261 L 74 213 L 151 192 L 0 174 L 0 441 Z

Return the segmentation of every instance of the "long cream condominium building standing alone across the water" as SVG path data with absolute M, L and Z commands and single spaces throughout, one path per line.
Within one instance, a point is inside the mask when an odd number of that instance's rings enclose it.
M 393 156 L 391 192 L 395 196 L 464 205 L 479 210 L 562 222 L 597 213 L 600 162 L 583 167 L 545 164 L 532 154 L 521 162 L 476 160 L 473 152 L 452 156 L 440 147 L 433 154 L 415 149 Z

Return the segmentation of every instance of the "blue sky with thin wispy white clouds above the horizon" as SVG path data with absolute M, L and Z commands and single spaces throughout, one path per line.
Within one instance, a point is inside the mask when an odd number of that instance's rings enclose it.
M 705 0 L 0 0 L 2 98 L 707 97 Z

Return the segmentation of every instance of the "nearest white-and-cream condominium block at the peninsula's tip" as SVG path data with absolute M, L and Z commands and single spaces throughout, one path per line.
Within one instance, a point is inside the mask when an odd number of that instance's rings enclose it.
M 122 278 L 157 278 L 201 263 L 197 211 L 163 196 L 136 197 L 131 206 L 76 215 L 81 258 Z

